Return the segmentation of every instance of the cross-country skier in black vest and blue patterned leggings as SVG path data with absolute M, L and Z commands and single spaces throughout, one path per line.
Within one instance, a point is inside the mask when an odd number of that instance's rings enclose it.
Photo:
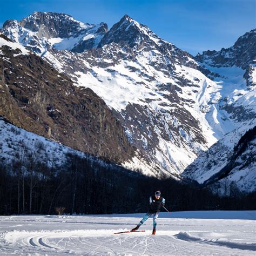
M 161 206 L 164 206 L 165 199 L 161 197 L 161 192 L 158 190 L 154 193 L 154 196 L 150 197 L 150 208 L 149 211 L 145 214 L 142 220 L 140 220 L 139 224 L 134 227 L 131 231 L 136 231 L 138 228 L 147 220 L 149 217 L 153 215 L 153 232 L 152 234 L 156 234 L 156 226 L 157 226 L 157 217 L 160 212 Z

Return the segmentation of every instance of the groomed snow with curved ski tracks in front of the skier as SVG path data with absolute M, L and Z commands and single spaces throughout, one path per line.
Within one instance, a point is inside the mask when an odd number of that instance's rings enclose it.
M 62 232 L 11 231 L 5 234 L 11 244 L 38 247 L 47 253 L 84 254 L 230 254 L 255 255 L 255 243 L 201 239 L 187 232 L 159 231 L 151 236 L 145 233 L 112 234 L 117 230 L 79 230 Z M 77 234 L 75 234 L 77 233 Z M 98 234 L 97 234 L 98 233 Z M 219 234 L 220 237 L 223 235 Z M 36 248 L 35 248 L 36 249 Z M 231 251 L 232 249 L 232 251 Z M 237 251 L 239 250 L 239 251 Z

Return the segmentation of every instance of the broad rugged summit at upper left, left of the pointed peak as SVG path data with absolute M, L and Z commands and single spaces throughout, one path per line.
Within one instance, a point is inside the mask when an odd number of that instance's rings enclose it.
M 43 55 L 49 48 L 82 52 L 96 47 L 107 31 L 107 25 L 82 23 L 69 15 L 34 12 L 18 22 L 8 20 L 2 32 L 27 49 Z

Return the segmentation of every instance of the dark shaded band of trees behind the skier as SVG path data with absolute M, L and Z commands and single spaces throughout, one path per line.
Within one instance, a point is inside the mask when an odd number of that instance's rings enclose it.
M 234 184 L 223 196 L 191 181 L 144 176 L 92 156 L 66 153 L 59 165 L 49 159 L 42 145 L 24 146 L 15 160 L 0 159 L 0 215 L 56 214 L 60 207 L 66 214 L 146 212 L 156 190 L 170 211 L 256 209 L 256 192 L 242 194 Z

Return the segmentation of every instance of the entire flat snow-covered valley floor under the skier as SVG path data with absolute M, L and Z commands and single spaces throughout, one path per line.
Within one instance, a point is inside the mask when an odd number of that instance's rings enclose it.
M 256 211 L 162 212 L 157 234 L 144 214 L 0 216 L 0 254 L 256 255 Z

